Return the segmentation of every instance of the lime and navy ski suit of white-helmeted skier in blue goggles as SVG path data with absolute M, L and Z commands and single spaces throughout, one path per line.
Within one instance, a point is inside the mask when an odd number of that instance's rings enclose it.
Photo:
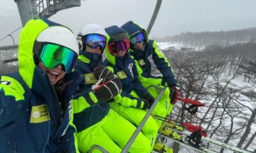
M 80 51 L 76 71 L 83 73 L 81 89 L 91 89 L 97 82 L 93 69 L 102 63 L 102 55 Z M 109 108 L 108 102 L 99 103 L 74 113 L 74 124 L 77 128 L 77 142 L 80 152 L 88 152 L 92 145 L 99 145 L 108 152 L 122 152 L 135 127 L 126 119 Z M 93 150 L 93 152 L 100 152 Z M 150 152 L 150 141 L 142 133 L 132 143 L 129 152 Z

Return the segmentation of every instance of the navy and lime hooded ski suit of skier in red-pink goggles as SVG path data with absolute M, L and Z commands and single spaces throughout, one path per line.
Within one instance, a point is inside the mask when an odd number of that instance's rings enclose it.
M 107 27 L 105 30 L 108 34 L 108 40 L 111 36 L 115 36 L 115 34 L 126 33 L 124 29 L 117 27 L 116 25 Z M 104 62 L 106 66 L 108 66 L 108 68 L 122 81 L 121 94 L 118 94 L 114 98 L 115 102 L 112 102 L 109 105 L 113 110 L 122 115 L 122 117 L 138 126 L 147 113 L 145 110 L 141 109 L 145 105 L 145 102 L 141 98 L 143 98 L 145 94 L 148 94 L 148 91 L 141 85 L 140 80 L 138 80 L 136 65 L 134 60 L 130 57 L 129 52 L 127 52 L 124 57 L 115 57 L 110 54 L 108 48 L 106 48 L 105 51 L 106 60 Z M 150 92 L 150 94 L 152 93 Z M 152 96 L 156 98 L 156 94 L 152 94 Z M 157 103 L 153 114 L 165 117 L 167 114 L 166 107 L 162 103 Z M 161 126 L 161 123 L 159 123 L 159 125 L 157 125 L 157 123 L 158 122 L 150 116 L 145 123 L 145 126 L 142 128 L 143 134 L 150 140 L 152 147 L 154 147 L 157 131 Z

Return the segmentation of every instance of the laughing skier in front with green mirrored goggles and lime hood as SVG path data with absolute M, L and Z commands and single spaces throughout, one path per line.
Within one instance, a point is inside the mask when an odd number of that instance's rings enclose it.
M 22 29 L 19 71 L 0 75 L 1 152 L 78 152 L 69 124 L 72 93 L 81 81 L 69 73 L 78 51 L 63 25 L 37 19 Z

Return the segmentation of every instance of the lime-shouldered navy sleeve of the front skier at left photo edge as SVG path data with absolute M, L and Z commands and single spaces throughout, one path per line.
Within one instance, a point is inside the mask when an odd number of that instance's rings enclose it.
M 0 128 L 17 119 L 25 109 L 24 89 L 17 81 L 4 84 L 3 77 L 0 84 Z M 8 83 L 8 82 L 6 82 Z

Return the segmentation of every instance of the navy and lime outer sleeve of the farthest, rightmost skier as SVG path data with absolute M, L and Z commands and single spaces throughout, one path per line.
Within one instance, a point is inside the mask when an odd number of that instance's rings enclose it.
M 157 47 L 156 41 L 153 41 L 152 47 L 154 62 L 156 64 L 157 69 L 159 69 L 159 71 L 162 73 L 165 82 L 167 82 L 168 86 L 173 84 L 179 86 L 177 78 L 174 75 L 174 71 L 170 66 L 170 63 L 168 62 L 166 57 L 164 57 L 163 52 L 161 52 L 161 50 L 159 50 L 159 48 Z

